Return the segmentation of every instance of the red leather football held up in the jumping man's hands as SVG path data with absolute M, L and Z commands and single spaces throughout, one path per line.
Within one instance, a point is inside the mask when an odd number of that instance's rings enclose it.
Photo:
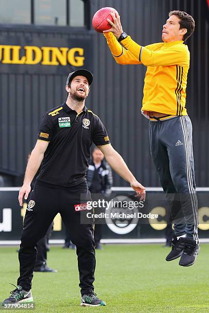
M 111 12 L 117 12 L 114 8 L 106 7 L 106 8 L 101 8 L 98 10 L 92 19 L 92 25 L 93 28 L 99 32 L 102 33 L 104 30 L 111 29 L 112 26 L 110 23 L 108 23 L 107 18 L 113 21 L 113 18 L 111 16 Z

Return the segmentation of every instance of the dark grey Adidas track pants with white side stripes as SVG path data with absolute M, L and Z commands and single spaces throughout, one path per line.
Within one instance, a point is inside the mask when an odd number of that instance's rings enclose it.
M 176 236 L 198 241 L 198 204 L 189 116 L 149 122 L 152 159 L 169 200 Z

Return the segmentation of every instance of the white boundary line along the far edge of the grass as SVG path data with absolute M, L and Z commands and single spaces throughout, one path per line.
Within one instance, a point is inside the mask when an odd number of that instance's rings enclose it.
M 209 243 L 209 238 L 199 239 L 200 243 Z M 165 243 L 164 238 L 149 238 L 149 239 L 101 239 L 101 243 Z M 64 244 L 64 239 L 50 239 L 50 244 Z M 19 245 L 20 240 L 0 240 L 1 245 Z

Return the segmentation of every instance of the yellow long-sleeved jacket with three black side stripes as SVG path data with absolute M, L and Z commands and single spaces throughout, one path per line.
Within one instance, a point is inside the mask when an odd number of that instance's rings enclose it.
M 142 114 L 157 111 L 169 115 L 187 115 L 186 82 L 190 52 L 180 41 L 159 42 L 142 47 L 128 36 L 117 41 L 112 32 L 104 34 L 113 57 L 119 64 L 144 64 Z

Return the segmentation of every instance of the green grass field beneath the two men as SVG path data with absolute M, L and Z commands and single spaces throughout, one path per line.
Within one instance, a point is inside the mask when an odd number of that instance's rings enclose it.
M 209 245 L 202 244 L 196 263 L 166 262 L 161 245 L 105 245 L 96 252 L 95 292 L 104 307 L 80 307 L 76 253 L 51 247 L 48 265 L 58 273 L 34 273 L 35 312 L 209 312 Z M 0 248 L 0 300 L 9 296 L 18 276 L 15 247 Z M 22 310 L 28 312 L 28 310 Z

